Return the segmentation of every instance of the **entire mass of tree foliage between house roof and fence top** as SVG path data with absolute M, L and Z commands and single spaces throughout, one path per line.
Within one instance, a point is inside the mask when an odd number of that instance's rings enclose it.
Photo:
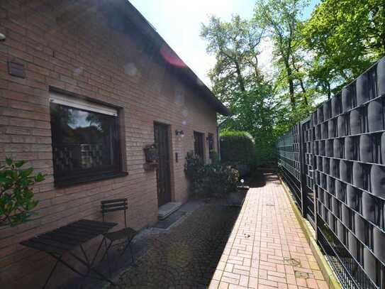
M 249 132 L 258 161 L 274 158 L 277 136 L 385 53 L 383 0 L 257 0 L 252 19 L 211 16 L 202 26 L 213 92 L 233 116 L 223 129 Z M 251 9 L 251 7 L 250 7 Z M 262 40 L 273 46 L 273 75 L 261 70 Z

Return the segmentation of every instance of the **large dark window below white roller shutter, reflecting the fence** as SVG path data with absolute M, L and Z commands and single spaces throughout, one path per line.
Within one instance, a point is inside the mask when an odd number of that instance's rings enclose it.
M 55 180 L 119 168 L 117 118 L 50 104 Z

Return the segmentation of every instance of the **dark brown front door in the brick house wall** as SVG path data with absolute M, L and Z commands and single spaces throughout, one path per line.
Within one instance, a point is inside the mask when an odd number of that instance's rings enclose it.
M 171 202 L 171 184 L 169 168 L 169 126 L 154 124 L 155 145 L 159 153 L 157 168 L 157 200 L 158 206 Z

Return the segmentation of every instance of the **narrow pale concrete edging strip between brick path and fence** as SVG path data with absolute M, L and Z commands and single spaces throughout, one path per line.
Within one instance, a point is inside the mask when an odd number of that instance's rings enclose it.
M 298 207 L 296 206 L 294 200 L 291 197 L 289 187 L 286 186 L 281 176 L 279 176 L 279 180 L 281 181 L 282 187 L 284 187 L 284 192 L 286 193 L 286 196 L 289 198 L 289 202 L 291 207 L 294 210 L 296 219 L 298 220 L 298 223 L 300 224 L 303 233 L 305 233 L 306 240 L 308 241 L 311 251 L 313 251 L 313 254 L 317 260 L 318 266 L 320 266 L 320 270 L 323 274 L 323 278 L 325 278 L 326 283 L 328 283 L 331 289 L 342 289 L 342 285 L 338 281 L 337 276 L 335 276 L 333 269 L 330 267 L 325 256 L 323 256 L 323 253 L 320 251 L 320 248 L 315 239 L 315 232 L 313 231 L 311 224 L 302 217 L 301 212 L 299 211 Z

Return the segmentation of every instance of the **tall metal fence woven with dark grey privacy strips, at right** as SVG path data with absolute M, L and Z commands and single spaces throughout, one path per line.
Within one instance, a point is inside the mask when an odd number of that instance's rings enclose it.
M 344 288 L 385 288 L 385 58 L 277 148 L 284 182 Z

